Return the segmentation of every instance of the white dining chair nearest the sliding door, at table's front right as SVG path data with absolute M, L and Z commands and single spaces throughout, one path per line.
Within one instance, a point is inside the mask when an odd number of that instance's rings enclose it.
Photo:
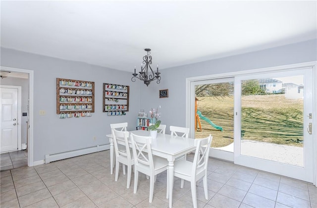
M 203 178 L 205 198 L 208 200 L 207 168 L 211 140 L 211 134 L 203 139 L 195 139 L 196 151 L 193 162 L 186 160 L 174 162 L 174 176 L 181 179 L 181 188 L 184 187 L 184 180 L 190 182 L 194 208 L 197 208 L 196 182 L 201 178 Z M 168 198 L 168 192 L 169 190 L 167 188 L 166 199 Z

